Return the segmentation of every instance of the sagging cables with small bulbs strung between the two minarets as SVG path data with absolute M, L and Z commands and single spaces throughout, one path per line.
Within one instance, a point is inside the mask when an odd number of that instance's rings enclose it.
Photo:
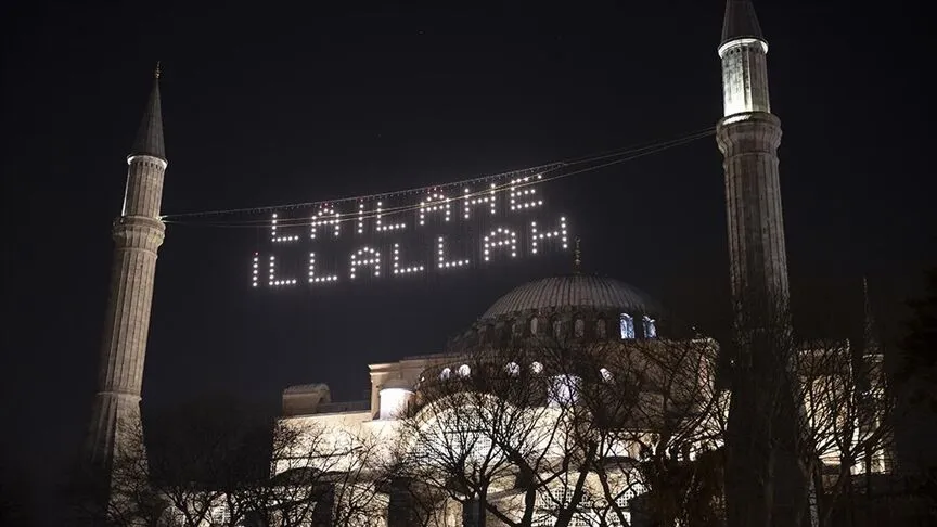
M 693 141 L 696 141 L 702 138 L 710 137 L 715 133 L 716 128 L 709 127 L 702 130 L 693 131 L 690 133 L 685 133 L 676 139 L 665 140 L 665 141 L 656 141 L 650 144 L 644 144 L 642 146 L 630 146 L 627 149 L 614 150 L 601 152 L 583 157 L 565 159 L 554 163 L 549 163 L 545 165 L 532 166 L 528 168 L 522 168 L 518 170 L 513 170 L 510 172 L 502 172 L 497 175 L 482 176 L 475 177 L 471 179 L 465 179 L 461 181 L 453 181 L 449 183 L 441 184 L 433 184 L 426 187 L 419 187 L 413 189 L 407 189 L 401 191 L 393 191 L 393 192 L 384 192 L 378 194 L 369 194 L 369 195 L 359 195 L 351 197 L 343 197 L 337 200 L 323 200 L 317 202 L 304 202 L 304 203 L 293 203 L 293 204 L 284 204 L 284 205 L 271 205 L 271 206 L 262 206 L 262 207 L 247 207 L 247 208 L 233 208 L 233 209 L 222 209 L 222 210 L 207 210 L 207 211 L 194 211 L 194 213 L 181 213 L 181 214 L 168 214 L 162 216 L 162 220 L 165 223 L 171 223 L 177 226 L 196 226 L 196 227 L 210 227 L 210 228 L 227 228 L 227 229 L 256 229 L 258 227 L 269 226 L 270 220 L 268 218 L 262 219 L 244 219 L 244 220 L 233 220 L 233 219 L 224 219 L 222 221 L 198 221 L 196 218 L 208 218 L 208 217 L 224 217 L 224 216 L 233 216 L 233 215 L 244 215 L 244 214 L 261 214 L 261 213 L 274 213 L 278 210 L 290 210 L 290 209 L 298 209 L 298 208 L 311 208 L 311 207 L 322 207 L 336 205 L 339 203 L 348 203 L 348 202 L 365 202 L 365 201 L 375 201 L 380 198 L 386 198 L 392 196 L 407 195 L 407 194 L 418 194 L 418 193 L 429 193 L 436 189 L 440 188 L 454 188 L 454 187 L 463 187 L 463 185 L 472 185 L 477 184 L 479 182 L 490 182 L 492 180 L 504 180 L 506 178 L 506 182 L 503 183 L 490 183 L 489 187 L 479 189 L 476 191 L 470 191 L 466 187 L 466 192 L 459 196 L 452 196 L 446 198 L 446 203 L 459 203 L 466 200 L 478 198 L 479 196 L 489 196 L 492 194 L 500 194 L 505 191 L 513 192 L 515 189 L 523 189 L 529 185 L 544 183 L 548 181 L 554 181 L 557 179 L 568 178 L 572 176 L 579 176 L 588 172 L 592 172 L 595 170 L 601 170 L 603 168 L 607 168 L 609 166 L 618 165 L 621 163 L 626 163 L 629 160 L 637 159 L 639 157 L 644 157 L 651 154 L 656 154 L 663 152 L 665 150 L 669 150 L 676 146 L 680 146 Z M 598 165 L 589 165 L 594 164 L 604 159 L 605 163 L 599 163 Z M 564 170 L 564 168 L 573 168 L 579 165 L 588 165 L 583 168 L 578 168 L 574 170 Z M 518 179 L 510 179 L 512 176 L 516 176 L 518 173 L 536 173 L 535 178 L 518 178 Z M 361 221 L 363 219 L 373 219 L 373 218 L 383 218 L 387 216 L 399 215 L 403 213 L 410 213 L 418 209 L 421 209 L 425 206 L 425 204 L 409 204 L 401 205 L 396 207 L 388 208 L 380 208 L 377 210 L 363 210 L 363 208 L 350 211 L 350 213 L 335 213 L 330 216 L 329 221 L 332 224 L 350 222 L 350 221 Z M 307 218 L 282 218 L 279 220 L 280 227 L 290 227 L 290 226 L 299 226 L 308 223 Z

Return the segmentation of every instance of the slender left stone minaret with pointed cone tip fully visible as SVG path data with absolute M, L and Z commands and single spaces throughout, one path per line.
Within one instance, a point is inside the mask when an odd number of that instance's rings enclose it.
M 124 208 L 114 220 L 111 296 L 98 374 L 98 394 L 88 437 L 89 455 L 106 475 L 116 453 L 137 437 L 140 388 L 150 331 L 156 249 L 166 227 L 159 220 L 166 151 L 159 108 L 159 66 L 153 91 L 127 156 Z

